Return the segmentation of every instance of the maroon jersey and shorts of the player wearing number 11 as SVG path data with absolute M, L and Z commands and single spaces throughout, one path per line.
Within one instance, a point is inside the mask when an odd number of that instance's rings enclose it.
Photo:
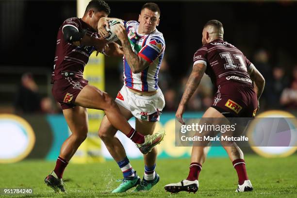
M 212 107 L 225 116 L 252 117 L 258 100 L 247 70 L 251 62 L 237 48 L 216 39 L 198 49 L 194 65 L 206 65 L 205 73 L 217 87 Z

